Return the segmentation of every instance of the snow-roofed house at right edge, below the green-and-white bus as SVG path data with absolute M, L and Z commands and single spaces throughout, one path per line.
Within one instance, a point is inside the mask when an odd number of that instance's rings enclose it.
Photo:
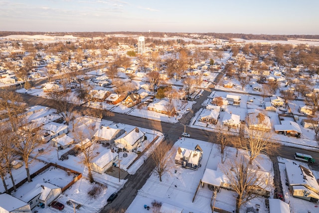
M 294 197 L 311 202 L 319 201 L 319 185 L 314 173 L 302 165 L 286 162 L 286 177 Z

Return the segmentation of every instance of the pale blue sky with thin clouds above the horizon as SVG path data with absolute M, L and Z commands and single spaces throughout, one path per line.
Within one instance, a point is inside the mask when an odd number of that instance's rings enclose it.
M 319 34 L 319 0 L 0 0 L 5 31 Z

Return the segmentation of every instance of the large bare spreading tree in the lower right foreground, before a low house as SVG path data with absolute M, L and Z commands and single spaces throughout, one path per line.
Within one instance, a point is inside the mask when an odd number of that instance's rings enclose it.
M 227 177 L 232 190 L 238 194 L 235 197 L 236 213 L 240 213 L 243 204 L 254 198 L 262 197 L 258 189 L 265 189 L 269 185 L 267 173 L 249 164 L 249 160 L 245 157 L 229 160 L 219 168 Z

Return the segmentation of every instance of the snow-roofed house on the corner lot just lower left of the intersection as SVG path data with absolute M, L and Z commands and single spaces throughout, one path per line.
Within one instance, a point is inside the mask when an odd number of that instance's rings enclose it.
M 144 140 L 146 140 L 145 133 L 136 127 L 128 134 L 116 139 L 114 143 L 118 148 L 134 150 L 137 149 Z

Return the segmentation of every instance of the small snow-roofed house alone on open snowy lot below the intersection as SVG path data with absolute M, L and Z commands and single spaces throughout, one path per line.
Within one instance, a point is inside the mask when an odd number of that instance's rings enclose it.
M 197 144 L 194 150 L 178 147 L 175 155 L 175 164 L 188 169 L 197 170 L 201 165 L 203 150 Z

